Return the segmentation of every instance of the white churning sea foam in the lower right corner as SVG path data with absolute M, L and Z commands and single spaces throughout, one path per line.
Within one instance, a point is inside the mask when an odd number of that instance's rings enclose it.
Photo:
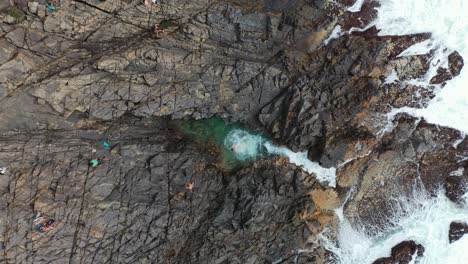
M 353 226 L 340 218 L 338 242 L 321 236 L 325 247 L 335 253 L 341 264 L 370 264 L 378 258 L 390 256 L 391 248 L 402 241 L 413 240 L 424 248 L 419 264 L 468 263 L 468 236 L 450 244 L 449 226 L 453 221 L 467 222 L 468 207 L 451 202 L 441 191 L 430 197 L 418 191 L 410 199 L 397 199 L 390 226 L 376 231 L 372 227 Z

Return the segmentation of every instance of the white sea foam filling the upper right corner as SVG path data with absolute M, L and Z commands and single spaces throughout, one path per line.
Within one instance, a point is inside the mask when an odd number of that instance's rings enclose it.
M 402 56 L 434 51 L 431 69 L 422 80 L 429 85 L 439 67 L 447 67 L 447 57 L 458 51 L 468 58 L 468 1 L 466 0 L 385 0 L 377 8 L 378 17 L 372 24 L 380 35 L 431 33 L 432 38 L 416 44 Z M 468 69 L 449 81 L 433 98 L 427 108 L 415 109 L 412 114 L 428 122 L 468 132 L 465 117 L 468 112 Z

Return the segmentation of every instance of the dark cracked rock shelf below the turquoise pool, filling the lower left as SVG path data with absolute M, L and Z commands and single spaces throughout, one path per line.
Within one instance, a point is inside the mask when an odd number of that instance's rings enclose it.
M 225 175 L 167 121 L 121 121 L 107 130 L 111 150 L 89 130 L 2 136 L 7 261 L 259 263 L 308 243 L 298 215 L 314 210 L 312 176 L 269 162 Z M 94 157 L 100 167 L 88 166 Z M 38 211 L 57 229 L 35 233 Z

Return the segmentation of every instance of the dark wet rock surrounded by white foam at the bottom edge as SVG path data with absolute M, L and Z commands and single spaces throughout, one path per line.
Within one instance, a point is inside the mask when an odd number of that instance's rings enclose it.
M 423 254 L 423 246 L 414 241 L 404 241 L 392 248 L 390 257 L 378 259 L 373 264 L 409 264 L 412 263 L 414 257 L 417 259 Z

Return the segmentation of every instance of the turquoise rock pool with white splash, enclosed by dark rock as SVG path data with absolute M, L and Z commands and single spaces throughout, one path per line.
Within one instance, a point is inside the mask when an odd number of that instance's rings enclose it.
M 269 155 L 264 147 L 269 141 L 267 136 L 247 132 L 239 124 L 226 123 L 220 117 L 179 120 L 177 126 L 191 140 L 217 152 L 218 165 L 227 171 Z

